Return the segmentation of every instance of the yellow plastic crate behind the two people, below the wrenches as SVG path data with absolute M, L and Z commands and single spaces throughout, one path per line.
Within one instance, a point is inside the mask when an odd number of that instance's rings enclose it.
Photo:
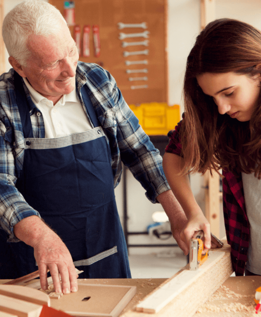
M 148 135 L 167 135 L 180 121 L 179 105 L 168 106 L 165 102 L 129 105 Z

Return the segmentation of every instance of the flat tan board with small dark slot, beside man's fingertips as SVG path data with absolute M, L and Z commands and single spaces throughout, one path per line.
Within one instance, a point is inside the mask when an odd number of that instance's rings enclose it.
M 135 294 L 135 286 L 78 283 L 78 292 L 51 298 L 51 307 L 73 316 L 117 317 Z

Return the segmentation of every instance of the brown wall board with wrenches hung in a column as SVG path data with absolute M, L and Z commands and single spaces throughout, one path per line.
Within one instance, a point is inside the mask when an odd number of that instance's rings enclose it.
M 49 0 L 64 15 L 64 1 Z M 146 102 L 167 102 L 167 0 L 75 0 L 75 24 L 80 26 L 81 39 L 84 25 L 90 25 L 90 56 L 80 56 L 79 60 L 94 62 L 108 70 L 115 78 L 128 104 Z M 147 29 L 118 29 L 117 23 L 143 23 Z M 94 36 L 92 27 L 100 28 L 100 56 L 94 56 Z M 133 37 L 120 40 L 119 33 L 142 33 L 149 31 L 148 38 Z M 74 26 L 70 26 L 73 36 Z M 122 47 L 122 42 L 142 42 L 148 46 Z M 81 43 L 82 46 L 82 43 Z M 148 50 L 148 55 L 124 57 L 123 52 Z M 148 64 L 125 65 L 125 61 L 144 61 Z M 146 69 L 146 73 L 127 74 L 126 70 Z M 129 78 L 147 77 L 148 80 Z M 131 89 L 131 86 L 147 85 L 147 88 Z

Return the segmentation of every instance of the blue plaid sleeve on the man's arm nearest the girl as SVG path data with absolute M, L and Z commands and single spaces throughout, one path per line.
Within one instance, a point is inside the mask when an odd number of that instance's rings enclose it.
M 113 87 L 121 160 L 145 188 L 147 198 L 152 203 L 157 203 L 156 197 L 170 189 L 162 168 L 162 157 L 125 102 L 114 78 L 110 74 L 109 76 Z

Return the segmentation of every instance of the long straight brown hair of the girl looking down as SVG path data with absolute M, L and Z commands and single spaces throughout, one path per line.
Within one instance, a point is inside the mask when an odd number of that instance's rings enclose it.
M 181 125 L 183 173 L 207 169 L 237 170 L 261 175 L 261 98 L 251 120 L 240 122 L 218 113 L 197 84 L 203 73 L 261 73 L 261 33 L 233 19 L 209 23 L 197 36 L 186 65 L 185 116 Z

